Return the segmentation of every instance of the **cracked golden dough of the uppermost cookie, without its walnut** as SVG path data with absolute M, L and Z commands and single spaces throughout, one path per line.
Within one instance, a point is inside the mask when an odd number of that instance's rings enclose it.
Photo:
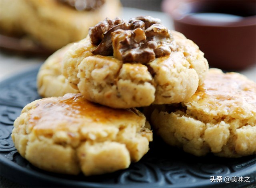
M 129 24 L 136 25 L 135 23 L 137 22 L 134 21 Z M 125 24 L 123 25 L 114 27 L 128 27 Z M 138 24 L 134 25 L 133 27 L 138 27 Z M 158 22 L 149 25 L 148 28 L 154 25 L 162 28 Z M 141 27 L 144 28 L 143 25 Z M 136 31 L 141 33 L 142 30 Z M 120 29 L 115 32 L 120 34 Z M 191 97 L 198 86 L 202 84 L 208 71 L 208 62 L 198 46 L 184 35 L 177 31 L 166 31 L 165 33 L 169 36 L 170 39 L 168 40 L 170 40 L 171 45 L 166 45 L 167 43 L 162 41 L 158 43 L 150 41 L 150 43 L 142 44 L 152 47 L 154 55 L 156 54 L 154 60 L 151 58 L 152 61 L 146 63 L 123 62 L 122 58 L 115 58 L 115 54 L 114 56 L 94 55 L 93 52 L 97 49 L 97 45 L 92 44 L 88 36 L 70 47 L 64 57 L 62 74 L 86 99 L 113 108 L 132 108 L 149 106 L 150 104 L 182 102 Z M 160 34 L 162 35 L 162 33 Z M 136 35 L 136 32 L 134 31 L 129 35 Z M 122 38 L 122 36 L 120 37 Z M 139 39 L 134 37 L 134 41 L 138 42 L 134 45 L 134 48 L 141 41 L 144 41 L 143 37 Z M 120 41 L 125 40 L 122 38 Z M 166 46 L 162 48 L 160 45 Z M 113 44 L 113 46 L 119 45 Z M 172 49 L 168 51 L 170 54 L 167 52 L 167 54 L 160 53 L 168 46 Z M 126 49 L 127 45 L 122 47 Z M 116 54 L 120 57 L 122 55 Z M 164 55 L 158 57 L 158 54 Z

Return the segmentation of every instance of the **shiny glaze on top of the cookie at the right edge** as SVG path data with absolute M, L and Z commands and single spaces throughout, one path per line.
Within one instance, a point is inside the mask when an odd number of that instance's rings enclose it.
M 237 73 L 222 73 L 220 70 L 210 70 L 202 86 L 188 102 L 196 102 L 207 108 L 222 108 L 221 106 L 237 106 L 248 108 L 256 113 L 256 84 Z M 214 104 L 211 106 L 210 104 Z M 236 108 L 234 108 L 235 110 Z

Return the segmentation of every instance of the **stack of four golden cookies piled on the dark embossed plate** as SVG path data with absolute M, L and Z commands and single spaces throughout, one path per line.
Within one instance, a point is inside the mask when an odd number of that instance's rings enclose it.
M 150 16 L 90 27 L 42 65 L 38 92 L 46 98 L 24 107 L 12 138 L 44 170 L 128 168 L 148 152 L 152 131 L 197 156 L 256 151 L 256 84 L 209 70 L 195 43 Z

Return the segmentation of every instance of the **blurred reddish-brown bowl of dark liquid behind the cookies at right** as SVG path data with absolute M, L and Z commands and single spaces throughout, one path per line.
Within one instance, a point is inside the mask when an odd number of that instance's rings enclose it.
M 211 67 L 239 71 L 256 63 L 255 0 L 165 0 L 162 8 Z

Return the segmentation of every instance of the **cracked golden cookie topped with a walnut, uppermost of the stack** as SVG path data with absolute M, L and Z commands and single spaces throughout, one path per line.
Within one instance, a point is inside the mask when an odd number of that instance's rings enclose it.
M 195 43 L 150 16 L 106 18 L 70 47 L 63 62 L 62 74 L 74 88 L 113 108 L 181 102 L 208 71 Z

